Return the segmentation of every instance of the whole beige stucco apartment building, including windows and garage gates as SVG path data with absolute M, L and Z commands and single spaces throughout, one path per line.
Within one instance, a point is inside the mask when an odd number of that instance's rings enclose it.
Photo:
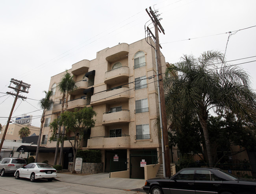
M 84 134 L 82 149 L 101 150 L 105 172 L 128 169 L 131 178 L 143 178 L 141 162 L 161 163 L 161 141 L 154 127 L 159 111 L 155 61 L 154 48 L 143 39 L 101 50 L 96 59 L 84 59 L 68 70 L 78 86 L 67 99 L 69 111 L 91 106 L 97 113 L 95 127 Z M 161 63 L 164 72 L 169 64 L 162 54 Z M 64 74 L 50 80 L 56 104 L 46 114 L 41 139 L 41 146 L 48 148 L 56 146 L 48 141 L 49 124 L 60 115 L 62 94 L 57 84 Z M 69 150 L 69 141 L 64 147 Z M 71 157 L 69 151 L 64 153 L 64 168 Z M 40 153 L 39 161 L 43 159 L 53 163 L 54 153 Z

